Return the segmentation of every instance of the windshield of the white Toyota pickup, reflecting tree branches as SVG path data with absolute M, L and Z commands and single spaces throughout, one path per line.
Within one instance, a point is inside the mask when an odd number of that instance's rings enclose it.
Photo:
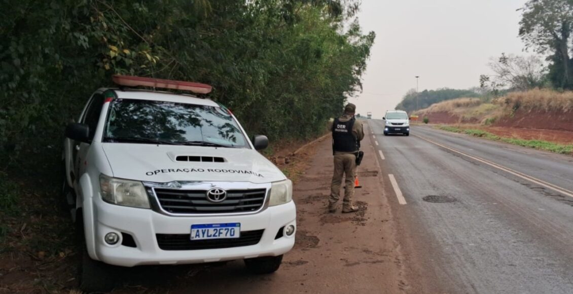
M 226 109 L 135 99 L 111 102 L 104 142 L 248 147 Z

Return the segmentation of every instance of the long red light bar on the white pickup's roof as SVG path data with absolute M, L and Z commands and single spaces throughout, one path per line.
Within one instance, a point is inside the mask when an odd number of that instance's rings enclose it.
M 126 87 L 155 87 L 164 89 L 176 89 L 183 91 L 191 91 L 194 93 L 207 94 L 211 92 L 211 86 L 201 83 L 193 83 L 188 81 L 174 81 L 154 79 L 152 77 L 135 77 L 135 76 L 121 76 L 113 75 L 113 83 Z

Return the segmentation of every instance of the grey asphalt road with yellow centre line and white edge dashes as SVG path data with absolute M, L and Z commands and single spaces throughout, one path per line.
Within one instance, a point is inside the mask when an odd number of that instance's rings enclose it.
M 383 120 L 368 125 L 407 292 L 573 293 L 572 156 L 426 126 L 383 136 Z

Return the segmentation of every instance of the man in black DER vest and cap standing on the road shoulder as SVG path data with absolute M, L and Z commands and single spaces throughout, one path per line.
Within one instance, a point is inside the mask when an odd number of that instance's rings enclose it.
M 364 139 L 364 130 L 361 123 L 354 118 L 356 105 L 348 103 L 344 107 L 344 115 L 337 117 L 332 123 L 332 153 L 334 154 L 334 174 L 330 186 L 328 211 L 335 213 L 340 197 L 340 185 L 344 175 L 346 191 L 342 213 L 353 213 L 358 208 L 352 205 L 354 195 L 354 173 L 356 170 L 356 156 L 360 141 Z

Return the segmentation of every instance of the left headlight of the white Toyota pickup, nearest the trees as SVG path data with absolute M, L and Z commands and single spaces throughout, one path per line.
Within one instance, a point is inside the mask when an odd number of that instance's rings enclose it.
M 100 175 L 100 194 L 103 201 L 130 207 L 150 208 L 142 182 L 116 179 Z

